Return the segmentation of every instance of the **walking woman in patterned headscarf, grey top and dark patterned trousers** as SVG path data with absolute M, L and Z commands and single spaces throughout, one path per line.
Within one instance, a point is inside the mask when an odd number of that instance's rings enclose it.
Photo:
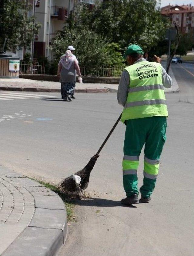
M 62 98 L 64 101 L 71 101 L 75 99 L 75 70 L 79 75 L 79 81 L 82 80 L 82 75 L 80 72 L 79 64 L 76 58 L 73 57 L 70 50 L 65 52 L 65 55 L 59 61 L 57 75 L 60 77 L 59 82 L 61 82 Z

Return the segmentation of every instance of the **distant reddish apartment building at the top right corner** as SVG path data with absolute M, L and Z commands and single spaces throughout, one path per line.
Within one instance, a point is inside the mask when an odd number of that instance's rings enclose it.
M 175 21 L 181 33 L 194 33 L 194 6 L 192 5 L 167 5 L 161 8 L 161 14 Z

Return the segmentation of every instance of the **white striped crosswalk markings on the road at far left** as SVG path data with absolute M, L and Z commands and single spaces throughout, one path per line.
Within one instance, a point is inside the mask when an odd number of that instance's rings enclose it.
M 25 100 L 25 99 L 40 99 L 40 98 L 54 98 L 53 95 L 42 95 L 42 94 L 33 94 L 33 93 L 15 93 L 15 92 L 0 92 L 0 100 Z

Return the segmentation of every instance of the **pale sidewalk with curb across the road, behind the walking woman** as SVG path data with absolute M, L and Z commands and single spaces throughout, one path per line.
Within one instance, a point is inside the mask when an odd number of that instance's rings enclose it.
M 166 93 L 179 92 L 179 86 L 176 82 L 172 69 L 169 74 L 172 77 L 173 85 L 171 88 L 164 88 Z M 77 93 L 113 93 L 117 92 L 118 84 L 103 84 L 103 83 L 76 83 Z M 0 79 L 0 90 L 9 91 L 28 91 L 28 92 L 60 92 L 61 84 L 59 82 L 38 81 L 31 79 Z

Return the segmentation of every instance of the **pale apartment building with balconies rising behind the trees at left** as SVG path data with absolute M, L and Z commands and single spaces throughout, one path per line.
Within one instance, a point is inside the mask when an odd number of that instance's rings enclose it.
M 63 30 L 69 13 L 74 10 L 79 3 L 85 3 L 89 9 L 92 9 L 96 2 L 103 0 L 28 0 L 32 8 L 28 11 L 28 17 L 35 15 L 36 22 L 42 26 L 38 31 L 38 35 L 34 36 L 34 53 L 24 48 L 18 49 L 17 54 L 22 60 L 24 54 L 29 52 L 34 58 L 48 57 L 52 58 L 52 52 L 49 45 L 56 33 Z M 35 12 L 33 6 L 35 5 Z

